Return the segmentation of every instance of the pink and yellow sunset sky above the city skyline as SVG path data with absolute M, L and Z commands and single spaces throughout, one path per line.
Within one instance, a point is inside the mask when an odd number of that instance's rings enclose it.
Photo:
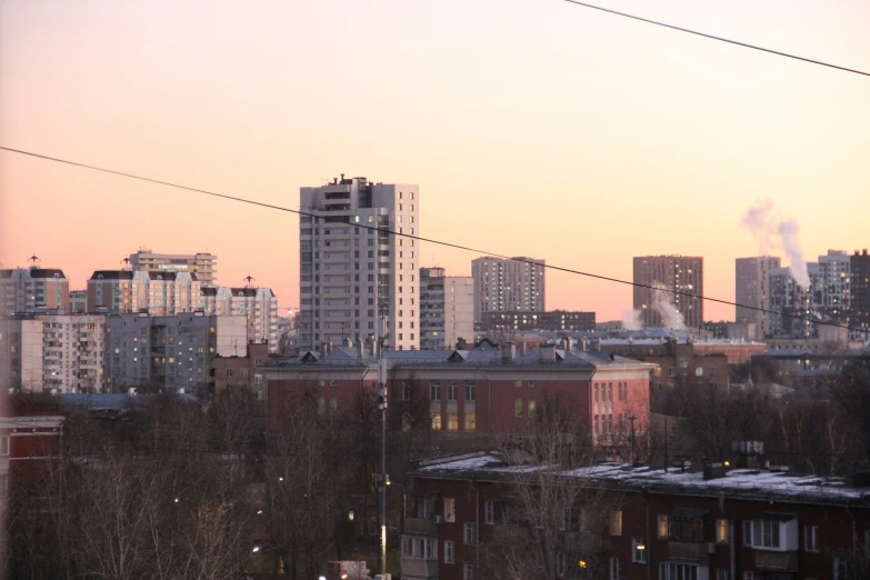
M 599 6 L 870 71 L 863 0 Z M 417 183 L 424 237 L 624 280 L 703 256 L 724 300 L 760 200 L 809 259 L 870 246 L 868 103 L 868 77 L 560 0 L 0 0 L 3 147 L 291 209 L 340 173 Z M 218 283 L 298 304 L 292 213 L 6 151 L 0 196 L 4 268 L 83 289 L 139 248 L 210 251 Z M 619 319 L 631 288 L 548 271 L 546 299 Z

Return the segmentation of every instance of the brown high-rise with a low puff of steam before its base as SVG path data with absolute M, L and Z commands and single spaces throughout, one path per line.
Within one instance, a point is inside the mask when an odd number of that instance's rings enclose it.
M 661 327 L 666 321 L 662 308 L 657 308 L 657 293 L 651 287 L 661 286 L 666 292 L 660 300 L 671 301 L 689 328 L 703 324 L 703 258 L 688 256 L 643 256 L 634 258 L 634 310 L 640 310 L 644 327 Z M 679 293 L 674 293 L 679 292 Z M 684 296 L 692 294 L 692 296 Z

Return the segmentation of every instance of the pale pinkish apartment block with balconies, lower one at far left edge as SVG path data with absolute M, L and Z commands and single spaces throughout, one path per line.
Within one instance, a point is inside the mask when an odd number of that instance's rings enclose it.
M 104 317 L 19 314 L 0 319 L 0 390 L 99 392 Z

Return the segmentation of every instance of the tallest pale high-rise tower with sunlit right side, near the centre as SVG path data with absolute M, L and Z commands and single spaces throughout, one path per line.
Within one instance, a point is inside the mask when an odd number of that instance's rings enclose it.
M 420 234 L 419 187 L 342 174 L 299 193 L 301 348 L 384 336 L 419 349 L 420 244 L 401 236 Z

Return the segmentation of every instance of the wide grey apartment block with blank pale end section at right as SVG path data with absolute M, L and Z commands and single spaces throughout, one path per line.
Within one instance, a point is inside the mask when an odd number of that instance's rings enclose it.
M 246 352 L 247 326 L 243 316 L 202 312 L 107 317 L 106 390 L 204 394 L 212 359 Z

